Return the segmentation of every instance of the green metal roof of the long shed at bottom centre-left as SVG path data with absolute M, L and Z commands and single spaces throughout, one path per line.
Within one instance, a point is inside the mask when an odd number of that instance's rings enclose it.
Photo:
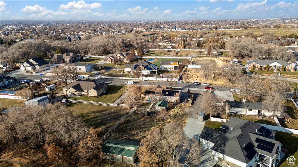
M 140 146 L 139 142 L 109 139 L 103 143 L 102 151 L 108 154 L 133 158 L 138 146 Z

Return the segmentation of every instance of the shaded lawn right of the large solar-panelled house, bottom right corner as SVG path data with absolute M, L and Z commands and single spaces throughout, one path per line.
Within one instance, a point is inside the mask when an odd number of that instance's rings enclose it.
M 279 141 L 281 144 L 283 144 L 282 148 L 287 149 L 288 151 L 285 153 L 285 156 L 283 159 L 280 160 L 280 163 L 278 166 L 280 167 L 289 167 L 291 165 L 288 165 L 287 158 L 291 155 L 294 155 L 294 157 L 298 157 L 298 135 L 291 134 L 291 133 L 284 133 L 279 132 L 275 134 L 274 140 Z M 297 158 L 295 160 L 295 165 L 298 166 Z

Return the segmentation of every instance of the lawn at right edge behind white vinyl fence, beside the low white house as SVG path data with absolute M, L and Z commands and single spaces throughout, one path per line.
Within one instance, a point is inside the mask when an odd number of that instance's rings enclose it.
M 284 106 L 287 113 L 291 116 L 291 123 L 280 122 L 280 125 L 285 128 L 298 129 L 298 114 L 295 112 L 297 108 L 292 100 L 285 100 Z

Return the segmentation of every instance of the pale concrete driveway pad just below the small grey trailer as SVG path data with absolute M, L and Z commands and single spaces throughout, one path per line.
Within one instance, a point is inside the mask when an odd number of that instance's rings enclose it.
M 205 125 L 205 121 L 198 121 L 196 118 L 189 118 L 184 127 L 184 133 L 190 139 L 193 137 L 199 140 L 199 136 L 202 133 L 203 127 Z

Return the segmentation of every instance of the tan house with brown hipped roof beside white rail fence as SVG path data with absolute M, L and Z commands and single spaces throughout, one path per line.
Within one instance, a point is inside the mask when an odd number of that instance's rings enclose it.
M 64 94 L 83 94 L 87 96 L 99 96 L 104 91 L 108 90 L 108 85 L 106 83 L 97 83 L 94 80 L 78 79 L 63 88 Z

